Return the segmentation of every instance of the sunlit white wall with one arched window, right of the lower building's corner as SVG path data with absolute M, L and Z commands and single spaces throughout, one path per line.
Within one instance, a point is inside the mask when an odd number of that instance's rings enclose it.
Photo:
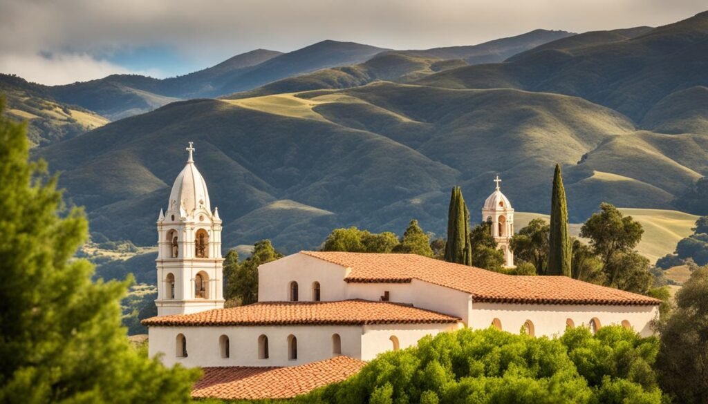
M 397 338 L 399 349 L 403 350 L 411 345 L 416 345 L 418 340 L 426 335 L 436 335 L 445 331 L 453 331 L 462 326 L 461 323 L 364 325 L 364 334 L 361 336 L 360 359 L 370 361 L 378 354 L 393 350 L 392 336 Z

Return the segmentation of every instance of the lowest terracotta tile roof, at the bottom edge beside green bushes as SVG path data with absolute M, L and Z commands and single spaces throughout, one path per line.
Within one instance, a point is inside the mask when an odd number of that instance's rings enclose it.
M 366 362 L 333 357 L 295 367 L 205 367 L 192 397 L 222 400 L 292 398 L 315 388 L 348 379 Z

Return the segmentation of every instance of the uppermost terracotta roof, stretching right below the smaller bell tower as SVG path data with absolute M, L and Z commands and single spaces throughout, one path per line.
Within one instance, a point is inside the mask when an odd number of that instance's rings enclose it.
M 418 279 L 472 294 L 473 301 L 535 304 L 658 305 L 651 297 L 569 277 L 515 276 L 414 254 L 302 251 L 351 268 L 346 282 L 411 282 Z

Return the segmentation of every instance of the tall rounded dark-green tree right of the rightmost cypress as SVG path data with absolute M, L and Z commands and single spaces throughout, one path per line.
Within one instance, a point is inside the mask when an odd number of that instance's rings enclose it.
M 622 262 L 632 263 L 632 273 L 641 275 L 634 271 L 641 262 L 632 255 L 632 251 L 641 241 L 643 233 L 644 229 L 639 222 L 634 221 L 631 216 L 625 217 L 608 203 L 600 204 L 600 212 L 593 214 L 580 231 L 581 237 L 590 238 L 590 246 L 603 262 L 606 283 L 612 287 L 628 283 L 628 274 L 622 273 L 623 267 L 619 265 Z M 646 270 L 649 270 L 648 265 Z

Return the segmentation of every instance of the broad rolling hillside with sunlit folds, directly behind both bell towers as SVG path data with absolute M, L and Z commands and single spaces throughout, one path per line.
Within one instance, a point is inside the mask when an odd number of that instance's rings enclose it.
M 575 221 L 603 201 L 669 208 L 708 161 L 697 135 L 637 132 L 581 98 L 390 82 L 172 103 L 37 156 L 63 171 L 93 231 L 152 245 L 188 141 L 224 246 L 270 237 L 285 252 L 316 247 L 337 226 L 401 232 L 416 218 L 442 235 L 450 187 L 462 185 L 476 221 L 497 173 L 516 209 L 544 212 L 556 162 Z

